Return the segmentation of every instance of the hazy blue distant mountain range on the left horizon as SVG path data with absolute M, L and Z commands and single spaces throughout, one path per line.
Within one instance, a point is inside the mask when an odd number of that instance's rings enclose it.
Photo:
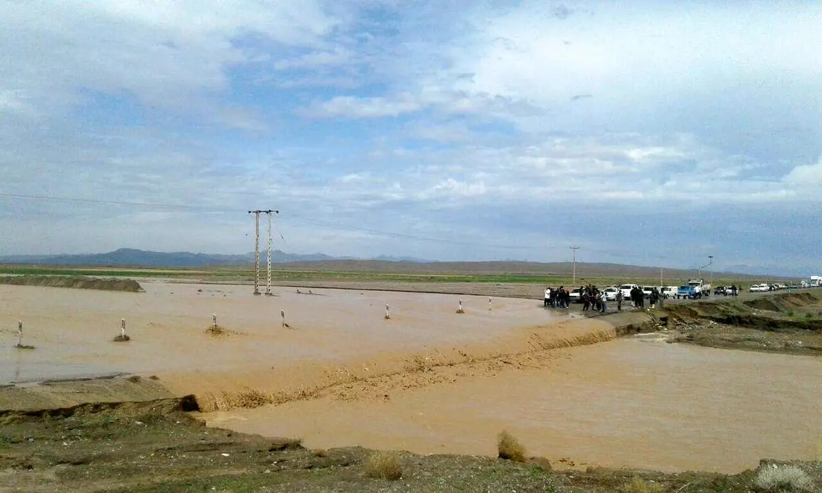
M 261 252 L 261 261 L 266 261 L 266 252 Z M 271 262 L 282 264 L 285 262 L 316 262 L 322 260 L 353 260 L 352 257 L 334 257 L 322 253 L 306 255 L 271 251 Z M 424 262 L 425 260 L 410 257 L 379 256 L 373 260 Z M 0 257 L 3 264 L 38 264 L 38 265 L 133 265 L 140 267 L 205 267 L 208 265 L 247 265 L 254 263 L 254 252 L 242 255 L 216 255 L 207 253 L 191 253 L 188 251 L 145 251 L 133 248 L 120 248 L 108 253 L 92 253 L 81 255 L 52 255 L 52 256 L 4 256 Z

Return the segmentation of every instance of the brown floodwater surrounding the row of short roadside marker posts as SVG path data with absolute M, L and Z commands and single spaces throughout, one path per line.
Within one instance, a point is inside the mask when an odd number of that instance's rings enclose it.
M 254 297 L 250 286 L 142 284 L 145 293 L 0 285 L 0 385 L 118 372 L 164 376 L 180 392 L 218 376 L 236 385 L 247 375 L 256 385 L 262 370 L 487 344 L 569 318 L 540 302 L 506 298 L 488 310 L 487 297 L 297 288 Z M 465 313 L 458 315 L 460 298 Z M 212 314 L 227 330 L 219 337 L 205 333 Z M 113 343 L 121 318 L 131 341 Z M 13 347 L 17 320 L 23 343 L 35 350 Z

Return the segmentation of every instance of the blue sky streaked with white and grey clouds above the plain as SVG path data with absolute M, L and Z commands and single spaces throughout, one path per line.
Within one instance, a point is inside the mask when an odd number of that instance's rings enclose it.
M 273 209 L 293 253 L 822 274 L 820 25 L 777 0 L 0 0 L 0 255 L 244 253 Z

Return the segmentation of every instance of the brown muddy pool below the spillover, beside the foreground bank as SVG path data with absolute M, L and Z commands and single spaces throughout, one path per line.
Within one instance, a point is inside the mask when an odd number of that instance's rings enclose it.
M 644 339 L 644 340 L 643 340 Z M 822 360 L 636 336 L 558 349 L 534 370 L 205 415 L 210 426 L 298 436 L 311 448 L 496 454 L 506 429 L 558 466 L 739 472 L 820 458 Z

